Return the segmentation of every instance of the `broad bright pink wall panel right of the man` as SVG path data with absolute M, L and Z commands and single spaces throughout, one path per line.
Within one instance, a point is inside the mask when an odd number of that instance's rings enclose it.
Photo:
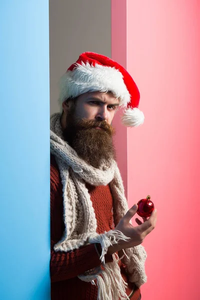
M 126 66 L 145 115 L 141 127 L 127 129 L 123 149 L 128 202 L 150 194 L 158 210 L 156 229 L 143 243 L 148 279 L 142 299 L 198 300 L 200 1 L 126 0 L 126 5 Z M 118 143 L 125 142 L 120 134 Z

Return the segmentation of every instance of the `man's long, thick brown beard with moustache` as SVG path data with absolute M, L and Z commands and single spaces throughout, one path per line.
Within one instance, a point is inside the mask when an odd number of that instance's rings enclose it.
M 114 128 L 106 121 L 76 118 L 72 110 L 67 114 L 63 137 L 79 157 L 99 168 L 103 162 L 109 167 L 112 160 L 116 159 L 112 142 L 114 133 Z

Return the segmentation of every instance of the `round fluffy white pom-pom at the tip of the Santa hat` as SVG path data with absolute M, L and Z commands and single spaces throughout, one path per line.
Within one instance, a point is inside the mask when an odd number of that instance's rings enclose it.
M 144 114 L 137 107 L 127 108 L 122 116 L 122 123 L 125 126 L 137 127 L 144 122 Z

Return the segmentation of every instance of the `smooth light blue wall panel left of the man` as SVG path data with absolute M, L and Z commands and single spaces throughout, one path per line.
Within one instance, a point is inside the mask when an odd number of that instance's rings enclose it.
M 0 0 L 0 300 L 50 299 L 47 0 Z

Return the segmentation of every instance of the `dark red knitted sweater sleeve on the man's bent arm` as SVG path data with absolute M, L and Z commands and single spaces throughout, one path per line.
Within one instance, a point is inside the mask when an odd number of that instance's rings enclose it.
M 101 264 L 100 244 L 89 244 L 68 252 L 53 250 L 54 244 L 61 238 L 63 224 L 62 190 L 53 180 L 50 182 L 50 277 L 51 282 L 66 280 Z M 112 261 L 111 255 L 105 255 L 105 262 Z

